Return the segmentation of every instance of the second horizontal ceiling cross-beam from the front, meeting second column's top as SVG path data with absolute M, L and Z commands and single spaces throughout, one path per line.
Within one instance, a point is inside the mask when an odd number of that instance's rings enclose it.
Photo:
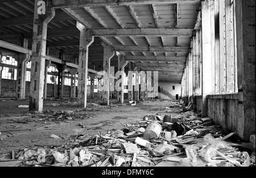
M 192 36 L 193 28 L 92 29 L 94 36 Z

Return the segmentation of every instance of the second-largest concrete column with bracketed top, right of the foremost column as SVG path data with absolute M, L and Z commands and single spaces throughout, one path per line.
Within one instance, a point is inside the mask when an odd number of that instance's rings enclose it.
M 77 22 L 76 27 L 80 30 L 77 103 L 85 108 L 87 102 L 88 48 L 94 42 L 94 37 L 92 31 L 81 23 Z

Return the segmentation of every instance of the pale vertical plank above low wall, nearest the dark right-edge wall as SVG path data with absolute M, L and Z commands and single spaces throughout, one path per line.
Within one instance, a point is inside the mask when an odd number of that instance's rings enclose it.
M 232 0 L 225 0 L 226 7 L 226 93 L 234 93 L 234 13 Z

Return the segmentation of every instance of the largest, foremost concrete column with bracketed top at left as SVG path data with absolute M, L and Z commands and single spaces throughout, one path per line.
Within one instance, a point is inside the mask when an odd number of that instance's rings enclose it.
M 36 110 L 40 113 L 43 111 L 47 24 L 55 16 L 55 10 L 51 7 L 46 7 L 46 14 L 39 15 L 38 1 L 35 0 L 34 9 L 29 110 Z

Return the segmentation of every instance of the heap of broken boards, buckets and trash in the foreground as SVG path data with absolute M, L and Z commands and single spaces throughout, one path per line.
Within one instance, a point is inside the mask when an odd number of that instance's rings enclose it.
M 108 130 L 106 134 L 97 133 L 90 138 L 82 134 L 71 136 L 65 145 L 16 150 L 0 156 L 0 164 L 36 167 L 255 167 L 255 135 L 251 135 L 251 142 L 246 144 L 230 142 L 234 135 L 215 125 L 212 119 L 200 118 L 193 111 L 175 117 L 147 115 L 137 123 L 126 123 L 120 130 Z

